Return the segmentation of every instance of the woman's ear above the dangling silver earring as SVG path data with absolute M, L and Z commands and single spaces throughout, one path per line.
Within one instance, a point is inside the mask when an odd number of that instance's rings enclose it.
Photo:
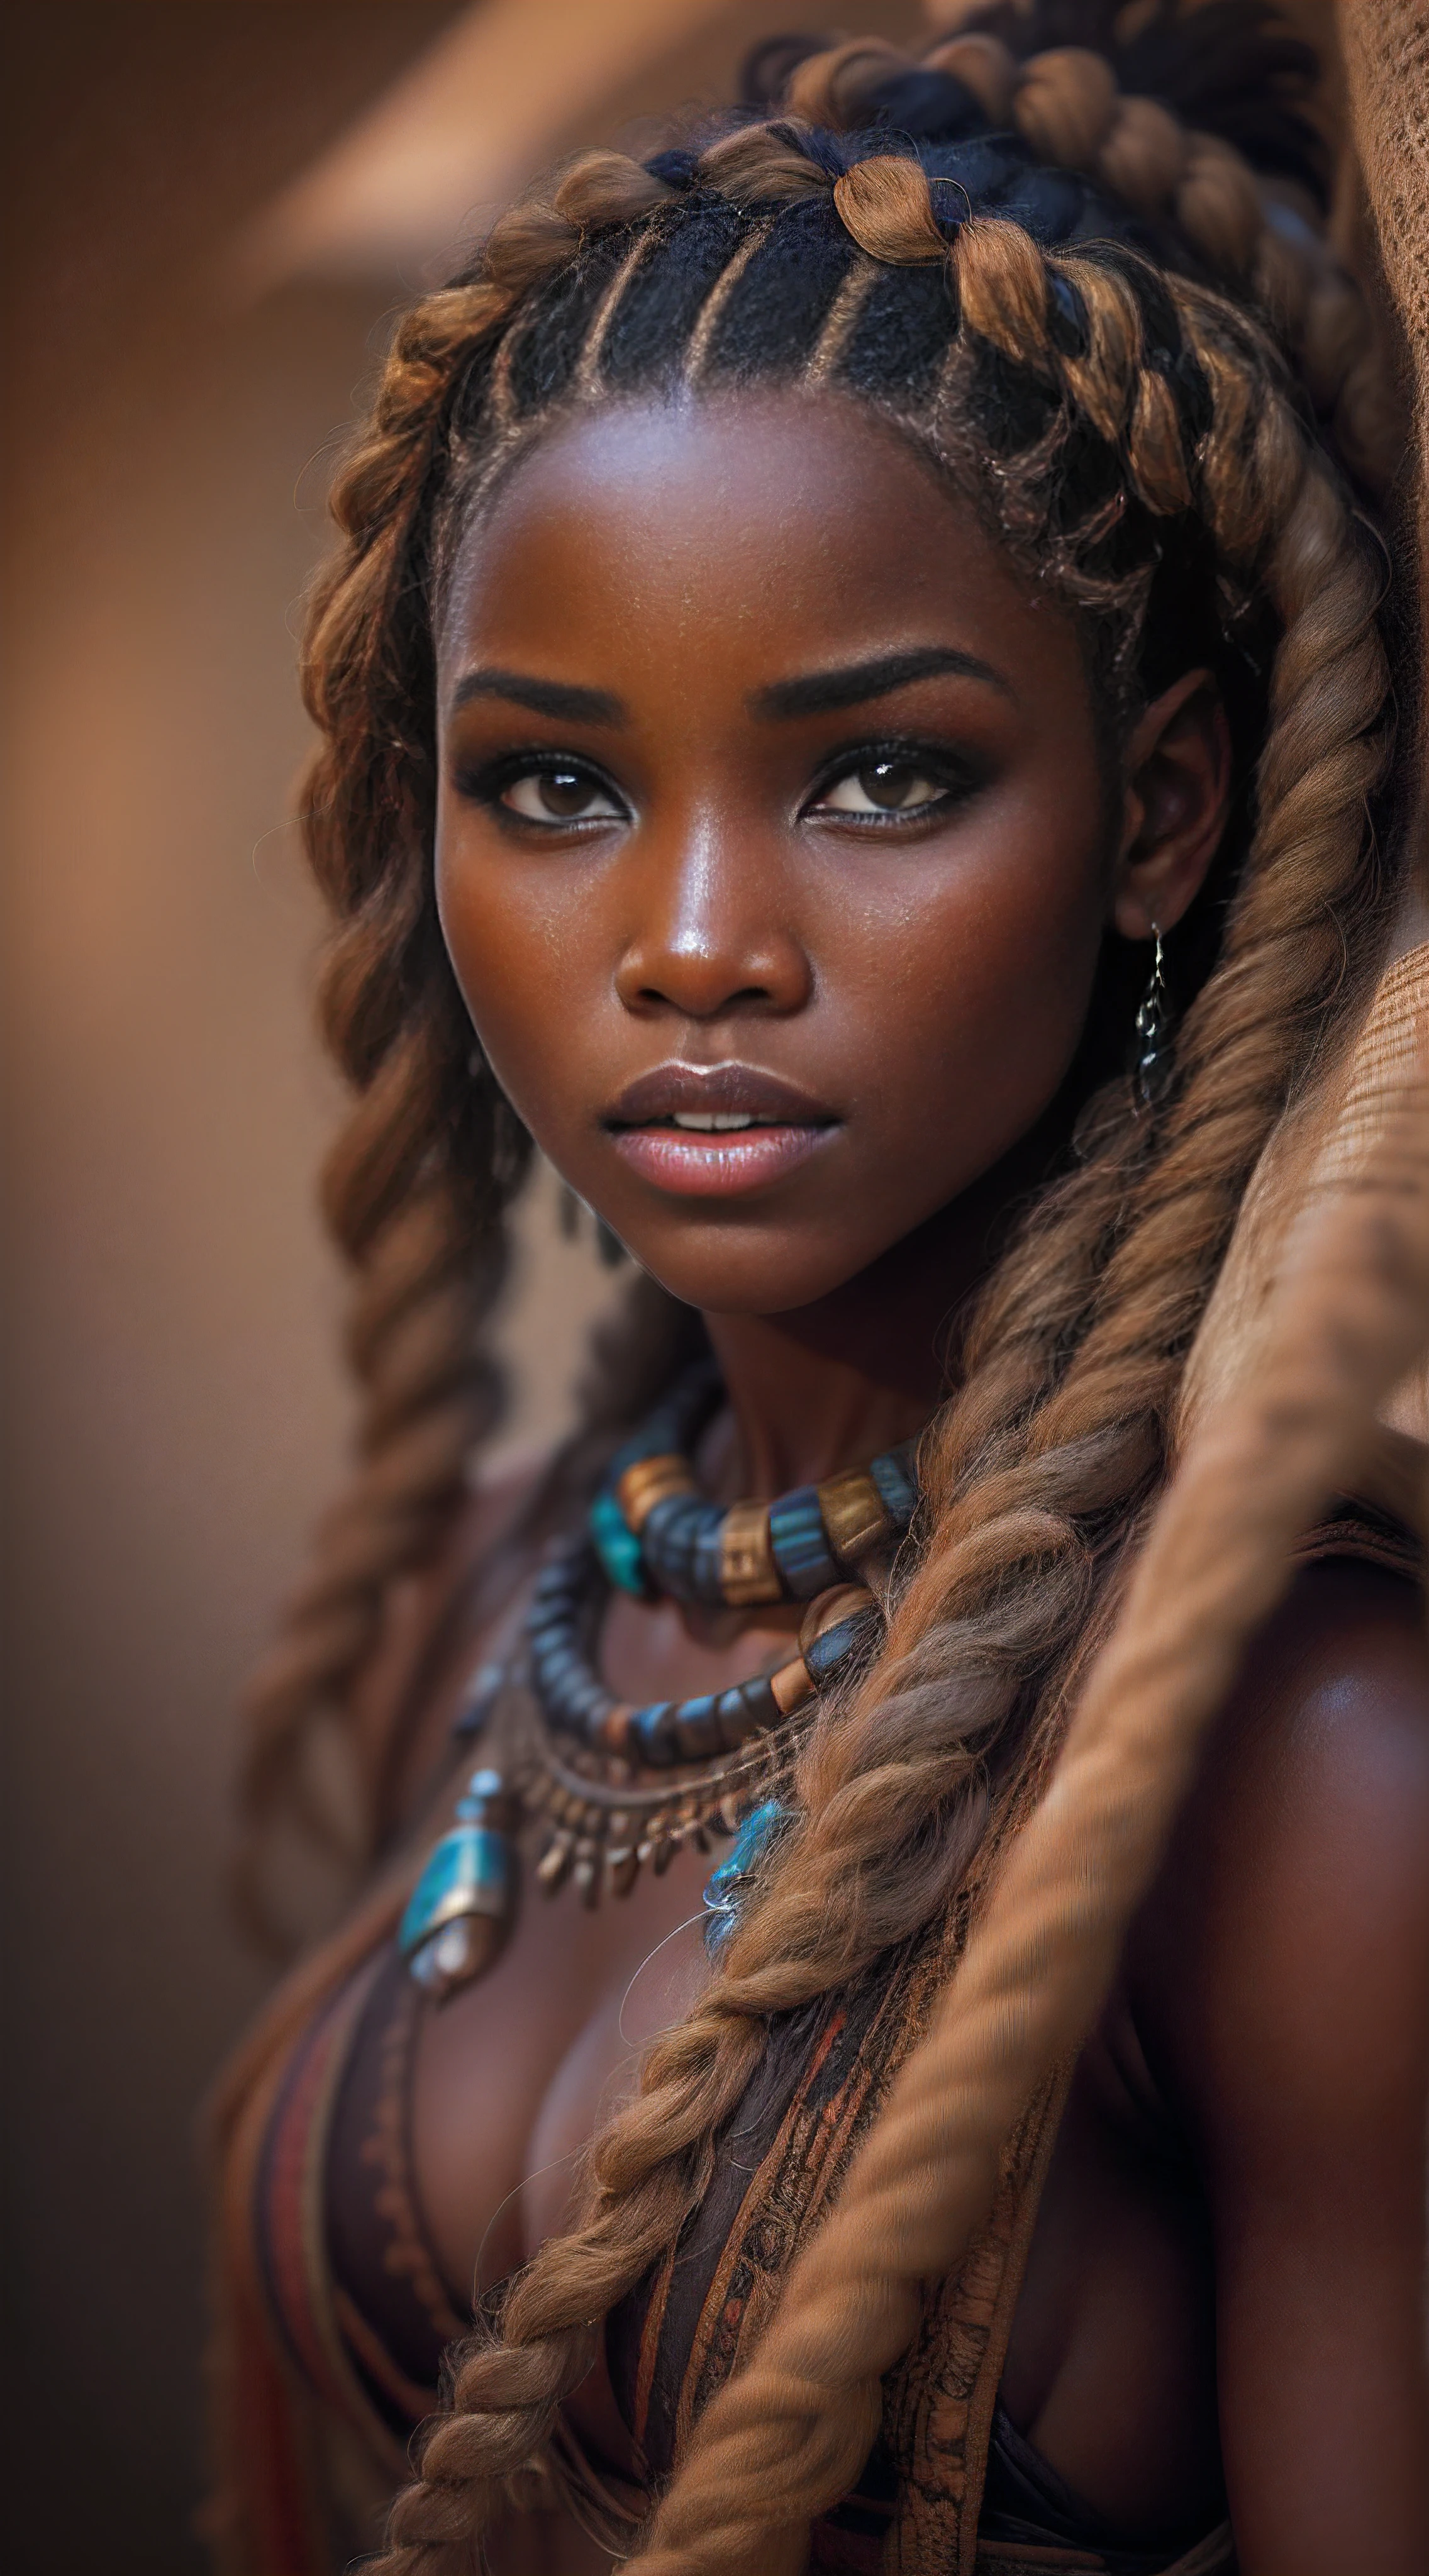
M 1112 922 L 1123 940 L 1172 930 L 1200 894 L 1231 804 L 1231 726 L 1208 670 L 1146 708 L 1125 747 Z

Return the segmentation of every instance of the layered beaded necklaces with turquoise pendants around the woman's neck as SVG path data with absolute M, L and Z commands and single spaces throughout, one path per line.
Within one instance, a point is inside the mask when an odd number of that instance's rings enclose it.
M 507 1767 L 481 1762 L 430 1852 L 399 1924 L 409 1973 L 443 1999 L 502 1950 L 518 1901 L 515 1834 L 541 1819 L 536 1880 L 574 1880 L 587 1906 L 628 1896 L 693 1842 L 734 1837 L 705 1888 L 705 1942 L 729 1937 L 742 1880 L 788 1821 L 780 1788 L 819 1695 L 868 1656 L 881 1610 L 860 1566 L 886 1564 L 917 1510 L 914 1448 L 726 1510 L 700 1494 L 690 1445 L 721 1401 L 713 1363 L 693 1368 L 602 1479 L 587 1530 L 536 1579 L 510 1664 L 481 1664 L 456 1721 L 474 1744 L 515 1687 Z M 734 1690 L 633 1708 L 595 1669 L 610 1592 L 711 1607 L 803 1600 L 798 1651 Z

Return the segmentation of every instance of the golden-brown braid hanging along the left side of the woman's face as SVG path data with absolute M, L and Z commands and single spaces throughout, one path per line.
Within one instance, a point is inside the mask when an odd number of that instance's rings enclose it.
M 345 1736 L 360 1847 L 317 1788 L 314 1716 L 345 1726 L 394 1577 L 427 1561 L 458 1510 L 471 1455 L 500 1419 L 481 1352 L 505 1278 L 505 1208 L 528 1144 L 492 1077 L 435 938 L 427 902 L 430 747 L 417 742 L 404 621 L 427 616 L 415 546 L 451 392 L 520 301 L 572 260 L 592 224 L 628 222 L 669 191 L 621 152 L 587 152 L 551 198 L 494 227 L 479 276 L 427 296 L 394 337 L 371 433 L 332 492 L 345 546 L 322 574 L 306 634 L 306 706 L 322 734 L 304 837 L 335 930 L 319 1018 L 358 1092 L 324 1170 L 327 1226 L 353 1278 L 348 1358 L 363 1391 L 358 1466 L 324 1515 L 312 1564 L 245 1698 L 239 1896 L 273 1937 L 263 1829 L 291 1808 L 348 1860 L 381 1837 L 381 1749 Z M 430 667 L 430 636 L 415 657 Z M 430 685 L 430 683 L 427 683 Z M 415 799 L 412 778 L 422 783 Z M 481 1177 L 487 1175 L 487 1180 Z

